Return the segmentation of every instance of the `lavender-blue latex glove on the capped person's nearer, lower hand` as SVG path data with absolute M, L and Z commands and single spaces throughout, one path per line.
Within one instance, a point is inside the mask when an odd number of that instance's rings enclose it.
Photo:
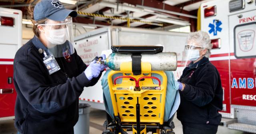
M 96 63 L 96 60 L 92 61 L 90 65 L 85 69 L 84 74 L 87 79 L 90 81 L 92 78 L 96 78 L 100 75 L 101 67 L 99 63 Z

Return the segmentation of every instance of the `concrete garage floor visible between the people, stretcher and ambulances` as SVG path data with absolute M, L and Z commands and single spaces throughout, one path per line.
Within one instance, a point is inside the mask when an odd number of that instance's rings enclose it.
M 106 118 L 105 111 L 94 109 L 94 108 L 91 108 L 90 111 L 91 111 L 90 112 L 90 134 L 101 134 L 102 130 L 104 129 L 102 124 L 104 123 Z M 182 124 L 176 118 L 176 116 L 174 117 L 173 121 L 175 124 L 174 132 L 176 134 L 182 134 Z M 0 134 L 16 134 L 17 131 L 14 128 L 13 123 L 14 123 L 13 120 L 9 120 L 7 122 L 6 121 L 0 122 Z M 132 132 L 128 132 L 128 133 L 132 134 Z M 217 134 L 248 134 L 248 133 L 244 133 L 237 130 L 230 130 L 226 127 L 219 126 Z

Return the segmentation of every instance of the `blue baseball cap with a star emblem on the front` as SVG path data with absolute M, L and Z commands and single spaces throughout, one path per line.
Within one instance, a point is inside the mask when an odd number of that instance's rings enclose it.
M 34 20 L 48 18 L 55 21 L 63 21 L 68 16 L 76 17 L 77 12 L 66 9 L 58 0 L 41 0 L 34 8 Z

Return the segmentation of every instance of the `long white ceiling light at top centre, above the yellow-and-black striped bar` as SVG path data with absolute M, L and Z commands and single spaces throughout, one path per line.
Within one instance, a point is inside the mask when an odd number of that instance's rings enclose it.
M 116 3 L 113 2 L 100 2 L 100 6 L 106 6 L 109 8 L 117 8 Z M 132 12 L 143 12 L 143 8 L 137 8 L 137 7 L 132 7 L 132 6 L 126 6 L 124 4 L 119 6 L 119 9 L 127 10 L 127 11 L 132 11 Z

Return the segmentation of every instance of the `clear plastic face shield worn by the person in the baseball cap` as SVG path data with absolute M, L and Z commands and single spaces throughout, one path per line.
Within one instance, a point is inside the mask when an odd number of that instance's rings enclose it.
M 54 57 L 69 58 L 74 53 L 74 37 L 72 18 L 64 21 L 47 20 L 45 24 L 37 24 L 43 27 L 48 52 Z

